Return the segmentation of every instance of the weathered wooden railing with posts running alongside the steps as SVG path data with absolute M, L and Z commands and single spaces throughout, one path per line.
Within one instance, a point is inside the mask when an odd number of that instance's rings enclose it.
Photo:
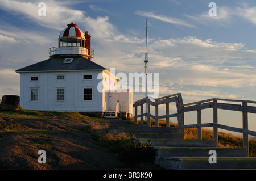
M 154 101 L 152 101 L 154 100 Z M 246 148 L 246 155 L 249 156 L 249 137 L 256 136 L 255 131 L 248 129 L 248 113 L 256 113 L 255 106 L 248 106 L 248 103 L 256 104 L 255 101 L 251 100 L 233 100 L 233 99 L 219 99 L 212 98 L 207 100 L 201 100 L 199 102 L 193 102 L 188 104 L 183 104 L 182 96 L 180 93 L 163 96 L 158 99 L 143 98 L 137 100 L 133 107 L 135 108 L 135 123 L 138 124 L 138 118 L 141 119 L 141 124 L 143 124 L 143 117 L 147 117 L 147 124 L 151 126 L 152 117 L 155 119 L 155 127 L 159 127 L 159 119 L 166 119 L 166 127 L 170 126 L 170 117 L 177 117 L 177 123 L 181 131 L 183 132 L 184 138 L 184 128 L 197 128 L 197 139 L 202 139 L 202 127 L 213 127 L 213 139 L 216 141 L 216 146 L 218 146 L 218 128 L 225 129 L 228 131 L 239 132 L 243 134 L 243 146 Z M 218 102 L 221 101 L 221 102 Z M 177 113 L 169 113 L 170 103 L 175 102 Z M 222 102 L 240 102 L 240 104 L 230 104 Z M 147 111 L 143 113 L 143 104 L 147 104 Z M 159 116 L 159 105 L 166 104 L 166 114 Z M 141 108 L 141 113 L 138 115 L 138 106 Z M 150 106 L 155 107 L 155 116 L 150 112 Z M 213 109 L 213 122 L 202 124 L 202 110 L 212 108 Z M 230 127 L 227 125 L 218 124 L 218 109 L 239 111 L 242 112 L 242 128 Z M 197 111 L 197 124 L 184 125 L 184 113 L 190 111 Z

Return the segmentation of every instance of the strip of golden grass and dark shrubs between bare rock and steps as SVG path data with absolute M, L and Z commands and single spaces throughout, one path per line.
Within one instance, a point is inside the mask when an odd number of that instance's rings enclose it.
M 151 143 L 137 141 L 132 133 L 109 132 L 109 124 L 96 123 L 86 127 L 86 130 L 93 134 L 101 149 L 118 154 L 118 159 L 127 166 L 139 166 L 139 163 L 146 163 L 147 167 L 152 166 L 155 159 L 155 150 Z

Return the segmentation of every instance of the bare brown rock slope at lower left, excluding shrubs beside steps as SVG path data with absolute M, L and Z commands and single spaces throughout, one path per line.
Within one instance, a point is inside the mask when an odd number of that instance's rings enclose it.
M 117 155 L 101 150 L 86 127 L 101 119 L 76 112 L 0 112 L 0 169 L 116 169 Z M 38 163 L 45 150 L 47 163 Z

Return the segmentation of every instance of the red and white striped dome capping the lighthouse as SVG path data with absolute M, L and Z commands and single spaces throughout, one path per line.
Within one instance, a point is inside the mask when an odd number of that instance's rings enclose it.
M 79 28 L 77 28 L 77 24 L 74 24 L 74 23 L 68 24 L 68 27 L 60 32 L 59 38 L 67 37 L 67 36 L 69 36 L 69 37 L 75 36 L 75 37 L 85 38 L 84 33 Z

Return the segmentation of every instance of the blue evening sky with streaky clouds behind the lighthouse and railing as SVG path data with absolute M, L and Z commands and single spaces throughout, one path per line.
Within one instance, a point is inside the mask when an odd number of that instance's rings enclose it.
M 46 5 L 45 16 L 38 14 L 40 2 Z M 216 16 L 209 14 L 210 2 L 216 3 Z M 146 18 L 147 71 L 159 73 L 159 97 L 179 92 L 184 104 L 210 98 L 256 100 L 253 0 L 0 0 L 0 97 L 19 95 L 15 70 L 47 60 L 48 49 L 57 46 L 60 31 L 71 22 L 92 36 L 92 61 L 115 73 L 143 72 Z M 143 97 L 134 94 L 134 100 Z M 241 127 L 241 113 L 220 115 L 220 122 Z M 193 113 L 186 117 L 196 123 Z M 254 120 L 249 129 L 256 131 Z

